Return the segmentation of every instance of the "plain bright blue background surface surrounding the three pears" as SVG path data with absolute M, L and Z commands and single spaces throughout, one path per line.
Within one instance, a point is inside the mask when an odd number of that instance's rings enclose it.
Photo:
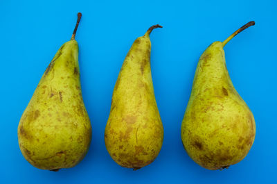
M 276 181 L 276 1 L 0 1 L 0 183 L 274 183 Z M 48 172 L 30 165 L 17 125 L 57 49 L 76 40 L 84 103 L 93 136 L 79 165 Z M 243 24 L 252 26 L 224 47 L 233 85 L 256 119 L 248 156 L 223 171 L 195 164 L 180 128 L 197 61 L 209 44 Z M 163 147 L 147 167 L 126 169 L 107 153 L 104 131 L 118 72 L 132 45 L 153 24 L 152 78 L 164 126 Z M 274 176 L 275 173 L 275 176 Z

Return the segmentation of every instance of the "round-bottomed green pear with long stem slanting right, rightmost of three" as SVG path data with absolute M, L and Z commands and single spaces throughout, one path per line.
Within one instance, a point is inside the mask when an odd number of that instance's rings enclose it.
M 213 42 L 199 59 L 193 89 L 181 124 L 181 140 L 190 158 L 206 169 L 224 169 L 240 162 L 256 134 L 251 110 L 233 87 L 226 69 L 224 42 Z

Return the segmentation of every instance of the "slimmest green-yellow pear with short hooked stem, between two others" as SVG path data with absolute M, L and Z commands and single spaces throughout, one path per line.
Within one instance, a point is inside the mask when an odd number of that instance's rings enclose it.
M 152 26 L 138 37 L 120 69 L 105 128 L 105 144 L 118 165 L 134 170 L 149 165 L 163 144 L 163 124 L 157 108 L 150 68 Z

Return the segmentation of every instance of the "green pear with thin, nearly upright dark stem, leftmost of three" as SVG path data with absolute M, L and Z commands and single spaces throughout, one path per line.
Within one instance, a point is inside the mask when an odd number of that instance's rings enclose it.
M 18 142 L 23 156 L 39 169 L 57 171 L 78 164 L 91 142 L 91 124 L 80 87 L 75 33 L 48 65 L 20 119 Z

